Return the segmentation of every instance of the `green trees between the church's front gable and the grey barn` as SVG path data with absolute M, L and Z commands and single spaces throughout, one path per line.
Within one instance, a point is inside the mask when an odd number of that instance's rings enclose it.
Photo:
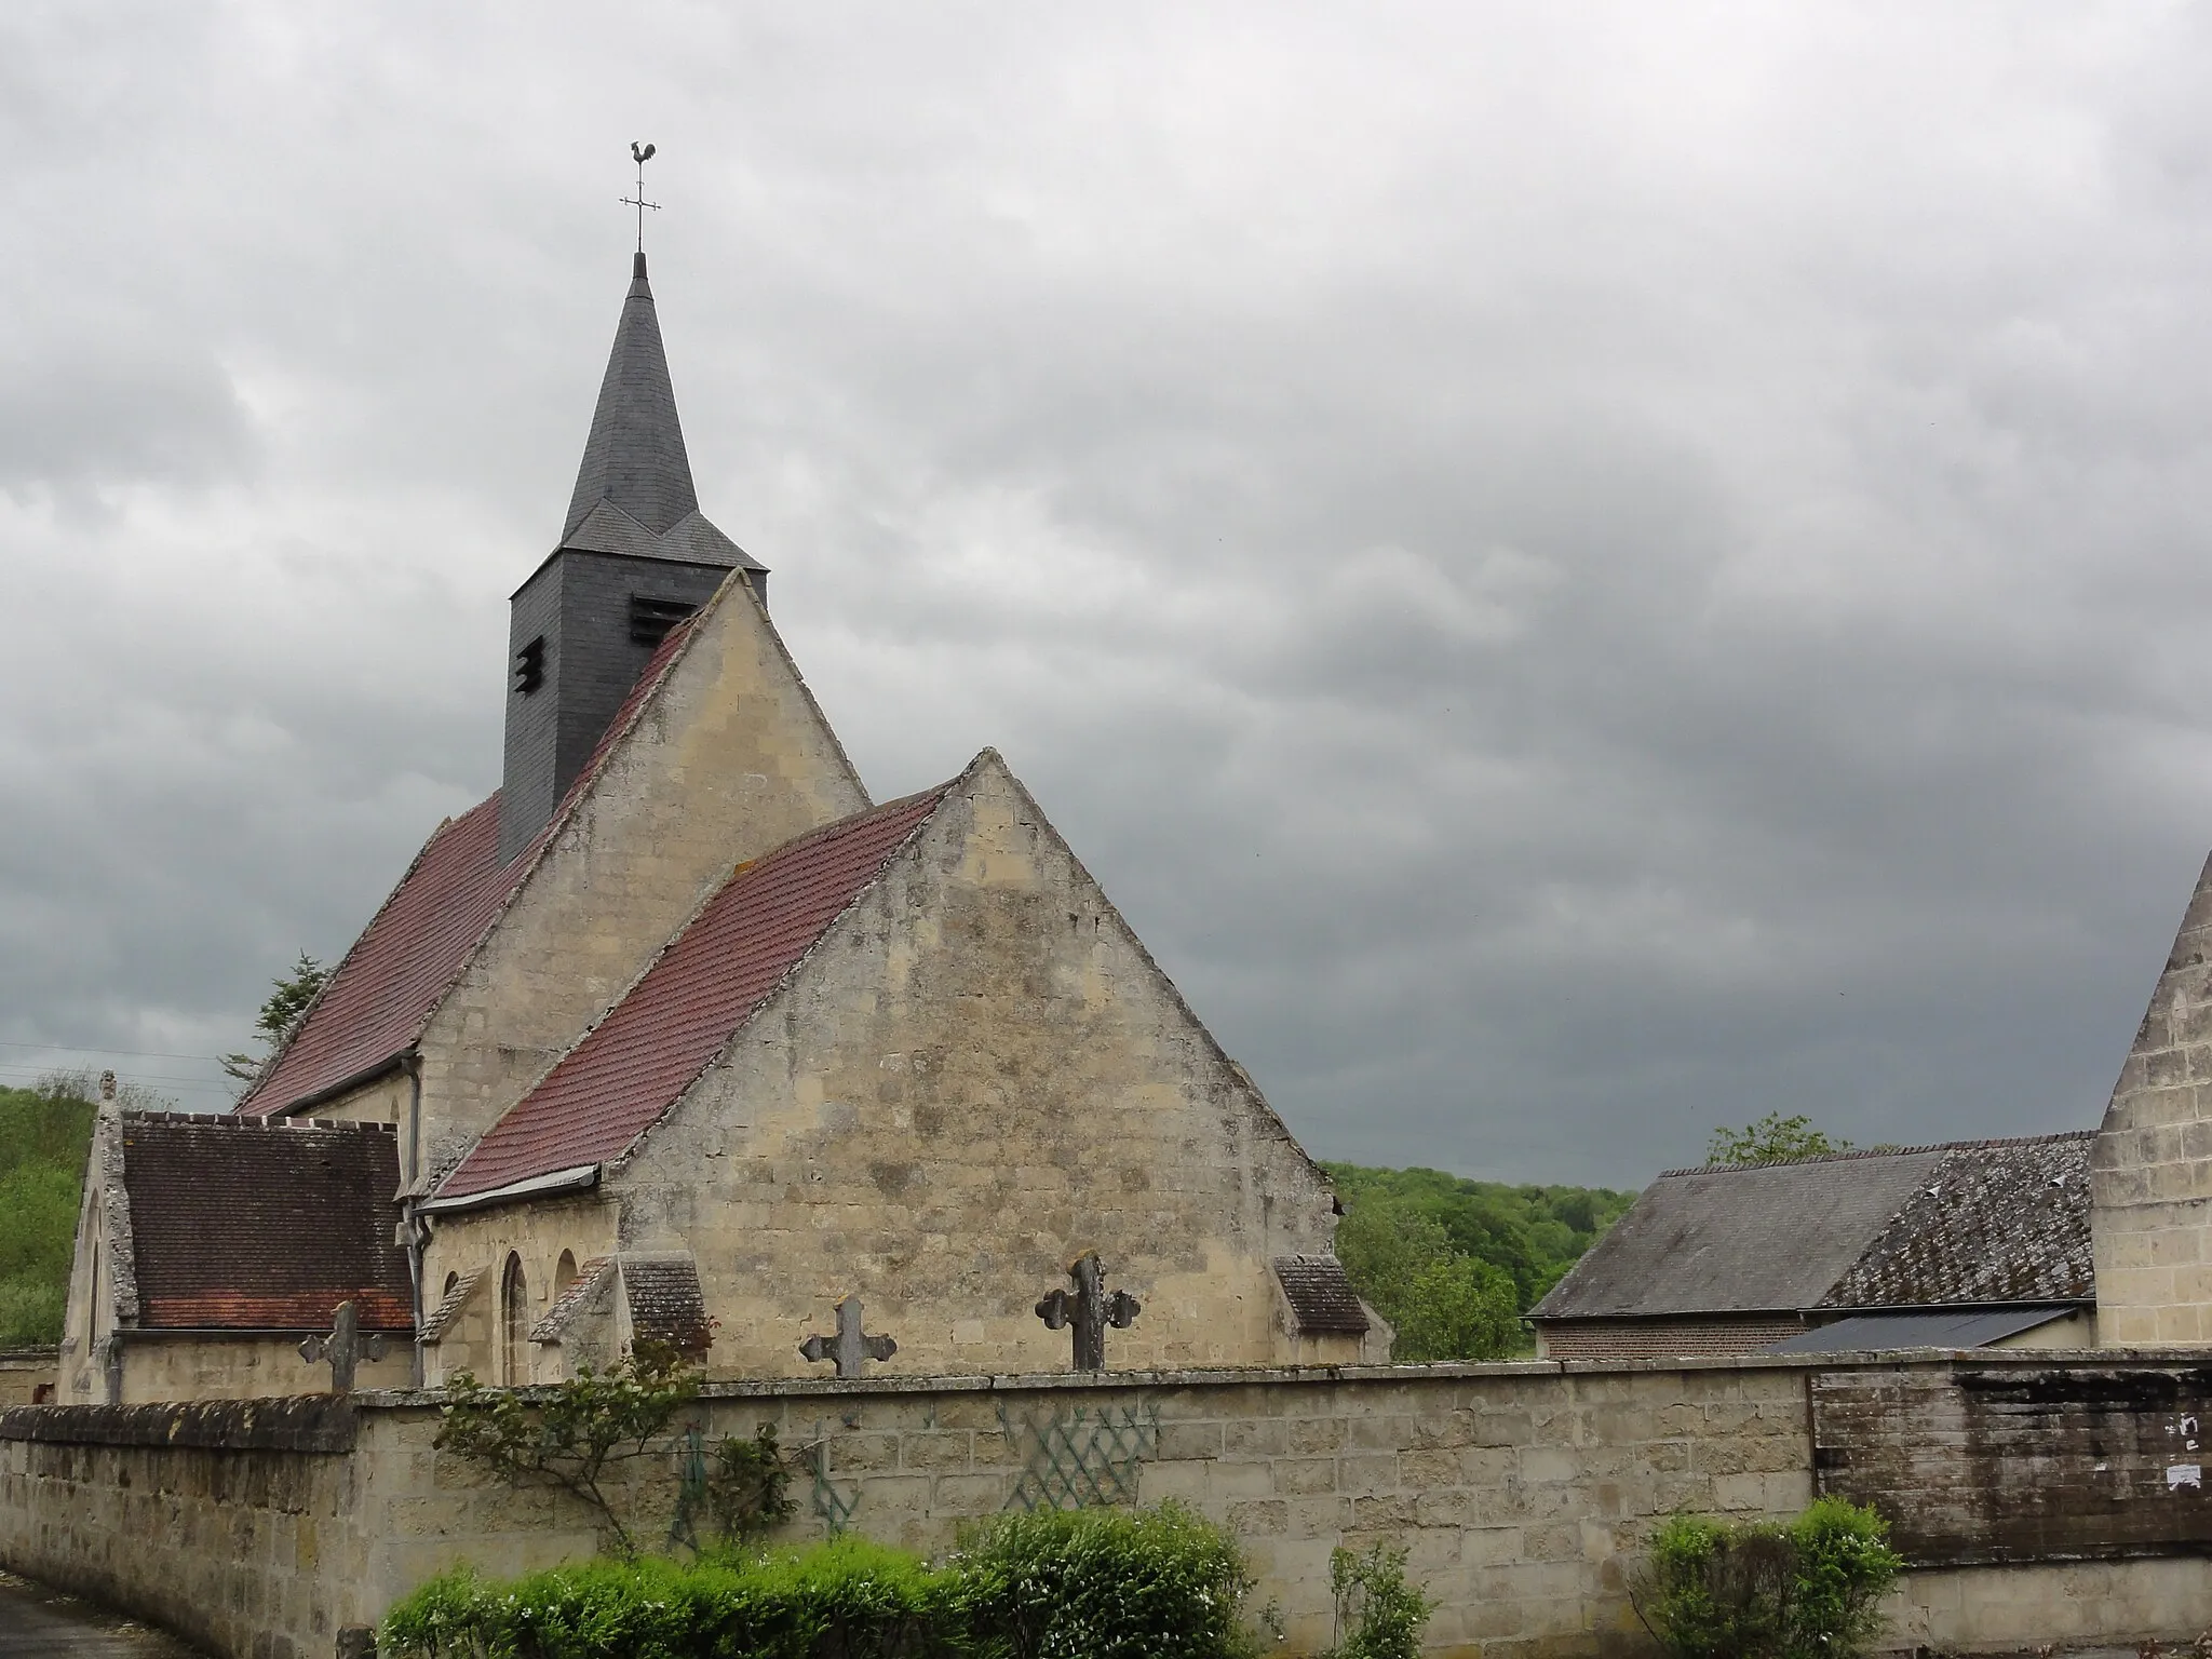
M 1597 1243 L 1632 1192 L 1504 1186 L 1442 1170 L 1329 1164 L 1345 1219 L 1336 1256 L 1396 1332 L 1398 1360 L 1484 1360 L 1528 1349 L 1520 1327 Z

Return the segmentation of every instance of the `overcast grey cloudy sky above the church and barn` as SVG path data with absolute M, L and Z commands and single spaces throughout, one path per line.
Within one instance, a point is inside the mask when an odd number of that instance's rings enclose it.
M 0 13 L 0 1079 L 498 781 L 628 279 L 878 799 L 1323 1157 L 2097 1121 L 2212 845 L 2212 11 Z

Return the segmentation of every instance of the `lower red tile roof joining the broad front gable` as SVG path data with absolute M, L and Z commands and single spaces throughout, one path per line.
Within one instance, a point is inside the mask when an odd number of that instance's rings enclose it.
M 608 1015 L 460 1161 L 440 1199 L 617 1157 L 706 1071 L 951 783 L 739 865 Z

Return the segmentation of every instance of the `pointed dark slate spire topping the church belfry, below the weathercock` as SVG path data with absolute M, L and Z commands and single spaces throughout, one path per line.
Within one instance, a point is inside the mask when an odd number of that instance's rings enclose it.
M 602 500 L 653 535 L 666 535 L 681 518 L 699 511 L 644 254 L 633 265 L 630 292 L 615 325 L 615 349 L 606 356 L 599 407 L 591 416 L 584 465 L 577 467 L 568 520 L 560 531 L 564 544 Z

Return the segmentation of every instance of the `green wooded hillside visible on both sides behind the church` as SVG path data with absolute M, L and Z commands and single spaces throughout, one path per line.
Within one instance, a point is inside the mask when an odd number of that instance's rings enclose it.
M 0 1088 L 0 1349 L 62 1338 L 93 1093 L 88 1075 Z M 1396 1327 L 1400 1360 L 1526 1354 L 1520 1316 L 1637 1197 L 1442 1170 L 1327 1170 L 1345 1203 L 1336 1254 Z

